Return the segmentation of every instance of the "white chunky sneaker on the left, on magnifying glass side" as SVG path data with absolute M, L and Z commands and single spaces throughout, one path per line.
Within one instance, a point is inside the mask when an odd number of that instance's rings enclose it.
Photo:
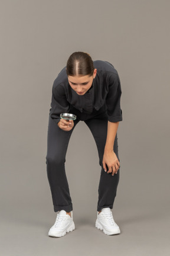
M 48 236 L 61 237 L 66 235 L 66 232 L 71 232 L 75 229 L 73 222 L 73 211 L 71 211 L 71 217 L 65 210 L 61 210 L 57 213 L 57 217 L 54 225 L 50 228 Z

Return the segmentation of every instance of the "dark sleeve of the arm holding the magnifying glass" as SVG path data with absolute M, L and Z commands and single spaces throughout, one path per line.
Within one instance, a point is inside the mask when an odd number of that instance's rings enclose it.
M 66 100 L 66 94 L 62 84 L 57 85 L 54 81 L 52 88 L 52 97 L 51 97 L 51 108 L 50 108 L 50 117 L 58 123 L 60 121 L 61 113 L 68 113 L 70 109 L 70 104 Z

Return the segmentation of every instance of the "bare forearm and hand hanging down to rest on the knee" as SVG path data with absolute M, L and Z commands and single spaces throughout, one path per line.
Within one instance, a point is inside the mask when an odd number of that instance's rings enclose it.
M 117 170 L 119 169 L 120 163 L 117 159 L 116 153 L 113 151 L 113 145 L 115 142 L 116 132 L 119 126 L 119 121 L 112 123 L 108 121 L 107 126 L 107 139 L 106 145 L 104 148 L 104 155 L 103 155 L 103 168 L 106 171 L 106 165 L 108 167 L 107 174 L 112 172 L 112 175 L 115 173 L 117 174 Z

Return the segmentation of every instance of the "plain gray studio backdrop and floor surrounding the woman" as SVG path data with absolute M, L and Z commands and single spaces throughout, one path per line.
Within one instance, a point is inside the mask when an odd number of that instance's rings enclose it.
M 2 255 L 169 255 L 169 7 L 1 0 Z M 94 227 L 100 166 L 80 122 L 66 162 L 76 229 L 48 237 L 56 217 L 45 164 L 51 89 L 77 50 L 111 62 L 122 84 L 117 236 Z

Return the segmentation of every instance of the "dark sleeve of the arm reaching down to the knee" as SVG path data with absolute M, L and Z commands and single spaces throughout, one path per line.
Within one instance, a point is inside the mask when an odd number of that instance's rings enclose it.
M 120 108 L 120 97 L 122 88 L 118 73 L 112 73 L 109 77 L 109 90 L 106 97 L 108 121 L 122 121 L 122 109 Z

